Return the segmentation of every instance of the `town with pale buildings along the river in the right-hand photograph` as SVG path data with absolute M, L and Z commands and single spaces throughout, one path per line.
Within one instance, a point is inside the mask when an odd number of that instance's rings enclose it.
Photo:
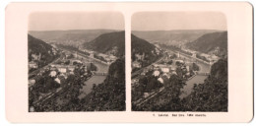
M 214 53 L 212 55 L 204 54 L 181 46 L 171 49 L 164 47 L 161 49 L 159 44 L 155 44 L 155 46 L 156 50 L 160 50 L 159 53 L 161 53 L 157 61 L 143 66 L 143 54 L 136 55 L 137 60 L 132 63 L 132 68 L 135 70 L 132 72 L 133 110 L 143 110 L 143 104 L 156 95 L 160 95 L 164 90 L 173 91 L 174 87 L 170 86 L 170 83 L 179 85 L 178 87 L 181 89 L 181 94 L 177 95 L 179 98 L 182 99 L 190 95 L 194 84 L 204 83 L 210 74 L 211 66 L 220 59 Z M 175 76 L 179 77 L 180 82 L 175 82 Z M 160 98 L 164 102 L 164 97 Z

